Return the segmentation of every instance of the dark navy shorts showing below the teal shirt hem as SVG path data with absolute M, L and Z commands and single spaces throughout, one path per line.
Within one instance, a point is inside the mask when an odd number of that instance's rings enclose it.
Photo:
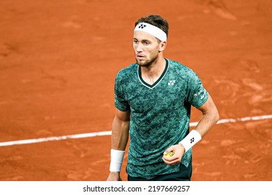
M 156 176 L 151 179 L 135 178 L 128 175 L 128 181 L 190 181 L 192 177 L 192 158 L 188 167 L 181 164 L 179 171 Z

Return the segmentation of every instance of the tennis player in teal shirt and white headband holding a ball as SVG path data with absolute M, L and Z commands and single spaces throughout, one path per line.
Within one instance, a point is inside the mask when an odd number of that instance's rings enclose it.
M 191 148 L 219 119 L 197 74 L 164 58 L 167 36 L 168 22 L 160 15 L 135 22 L 136 63 L 119 71 L 115 81 L 109 181 L 120 180 L 129 137 L 129 181 L 191 180 Z M 191 106 L 202 112 L 202 118 L 190 131 Z M 174 155 L 166 156 L 169 152 Z

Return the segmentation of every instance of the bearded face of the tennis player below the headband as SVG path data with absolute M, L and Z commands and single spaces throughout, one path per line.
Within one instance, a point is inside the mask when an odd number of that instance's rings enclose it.
M 140 66 L 148 67 L 158 59 L 160 42 L 154 36 L 142 31 L 135 31 L 133 49 L 135 59 Z

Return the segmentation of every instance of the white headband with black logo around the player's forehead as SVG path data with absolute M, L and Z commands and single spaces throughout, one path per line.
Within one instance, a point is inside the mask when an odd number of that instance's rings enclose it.
M 137 24 L 134 31 L 142 31 L 145 33 L 149 33 L 151 34 L 151 36 L 154 36 L 161 41 L 167 40 L 166 33 L 162 29 L 159 29 L 157 26 L 153 26 L 152 24 L 146 22 Z

